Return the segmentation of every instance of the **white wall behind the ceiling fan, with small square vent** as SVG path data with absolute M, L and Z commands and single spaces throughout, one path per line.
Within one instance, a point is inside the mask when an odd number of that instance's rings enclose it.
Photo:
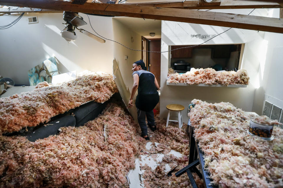
M 94 31 L 85 14 L 80 13 Z M 1 25 L 14 21 L 19 14 L 0 16 Z M 38 23 L 28 24 L 27 18 L 38 16 Z M 78 30 L 78 38 L 68 43 L 61 37 L 64 28 L 62 13 L 27 13 L 14 26 L 0 30 L 0 75 L 12 78 L 16 84 L 29 84 L 27 71 L 45 59 L 55 56 L 61 72 L 103 71 L 112 73 L 113 45 L 111 41 L 99 43 Z M 106 38 L 113 38 L 112 18 L 89 16 L 93 28 Z

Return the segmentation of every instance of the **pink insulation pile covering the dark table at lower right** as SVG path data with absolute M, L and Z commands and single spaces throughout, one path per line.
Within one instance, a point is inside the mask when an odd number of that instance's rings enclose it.
M 263 140 L 247 133 L 250 117 L 231 103 L 192 103 L 195 107 L 188 115 L 213 184 L 283 186 L 283 129 L 274 127 L 274 140 Z

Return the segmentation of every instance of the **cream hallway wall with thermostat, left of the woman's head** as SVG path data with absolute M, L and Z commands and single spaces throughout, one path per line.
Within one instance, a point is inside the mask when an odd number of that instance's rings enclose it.
M 141 50 L 141 35 L 132 31 L 129 27 L 118 21 L 118 19 L 113 18 L 112 20 L 114 31 L 113 39 L 129 48 Z M 114 58 L 119 65 L 124 83 L 131 91 L 134 83 L 132 78 L 132 65 L 135 61 L 141 59 L 141 51 L 132 51 L 118 43 L 114 43 L 113 49 Z M 128 56 L 128 59 L 125 59 L 125 56 Z M 127 103 L 129 101 L 125 102 Z

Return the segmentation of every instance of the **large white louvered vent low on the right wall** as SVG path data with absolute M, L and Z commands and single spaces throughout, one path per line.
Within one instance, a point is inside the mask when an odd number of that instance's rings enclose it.
M 283 123 L 283 109 L 265 101 L 262 115 L 268 116 L 272 120 L 278 120 Z M 279 125 L 283 129 L 283 125 Z

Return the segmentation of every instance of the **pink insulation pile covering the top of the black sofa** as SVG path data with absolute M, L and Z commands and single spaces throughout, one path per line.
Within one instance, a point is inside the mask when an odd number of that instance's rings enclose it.
M 88 73 L 55 86 L 0 98 L 0 133 L 36 126 L 90 100 L 103 103 L 117 92 L 113 77 Z M 46 85 L 47 86 L 47 85 Z

